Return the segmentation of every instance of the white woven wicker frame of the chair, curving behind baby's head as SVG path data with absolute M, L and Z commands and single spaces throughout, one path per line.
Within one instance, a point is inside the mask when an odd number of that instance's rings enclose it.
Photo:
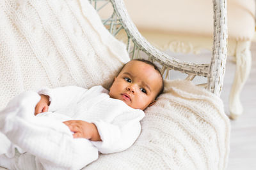
M 106 1 L 98 6 L 98 2 Z M 188 74 L 186 80 L 193 80 L 195 76 L 207 77 L 207 83 L 199 86 L 220 96 L 225 74 L 225 64 L 227 59 L 227 3 L 226 0 L 213 0 L 213 46 L 210 64 L 196 64 L 184 62 L 175 57 L 161 52 L 156 47 L 150 45 L 147 39 L 141 36 L 140 32 L 129 17 L 122 0 L 90 0 L 95 10 L 99 11 L 108 3 L 113 6 L 111 17 L 102 19 L 102 22 L 108 27 L 109 32 L 116 36 L 122 29 L 127 34 L 127 51 L 131 54 L 131 59 L 140 58 L 140 52 L 148 56 L 148 60 L 158 62 L 161 65 L 161 73 L 164 79 L 170 79 L 170 70 L 180 71 Z

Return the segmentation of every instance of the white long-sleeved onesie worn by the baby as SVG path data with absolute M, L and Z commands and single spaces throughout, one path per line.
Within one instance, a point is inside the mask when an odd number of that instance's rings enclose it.
M 38 94 L 50 96 L 51 104 L 48 112 L 35 117 Z M 98 151 L 114 153 L 129 148 L 140 134 L 143 117 L 142 110 L 110 98 L 102 86 L 89 90 L 70 86 L 23 92 L 0 112 L 0 166 L 19 169 L 20 162 L 26 161 L 24 157 L 19 161 L 13 159 L 16 147 L 26 157 L 35 157 L 37 169 L 81 169 L 98 158 Z M 94 123 L 102 141 L 73 138 L 62 123 L 65 120 Z

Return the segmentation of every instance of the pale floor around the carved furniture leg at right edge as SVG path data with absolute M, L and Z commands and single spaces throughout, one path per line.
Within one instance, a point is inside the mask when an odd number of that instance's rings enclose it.
M 231 120 L 231 139 L 228 170 L 256 169 L 256 43 L 252 43 L 252 69 L 243 91 L 241 102 L 244 113 Z M 221 98 L 228 114 L 228 95 L 236 66 L 228 61 Z

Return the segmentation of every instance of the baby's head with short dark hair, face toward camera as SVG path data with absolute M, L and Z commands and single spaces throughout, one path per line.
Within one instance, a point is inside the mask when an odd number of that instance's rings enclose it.
M 163 92 L 163 77 L 155 64 L 131 60 L 122 68 L 109 89 L 109 96 L 134 109 L 145 110 Z

